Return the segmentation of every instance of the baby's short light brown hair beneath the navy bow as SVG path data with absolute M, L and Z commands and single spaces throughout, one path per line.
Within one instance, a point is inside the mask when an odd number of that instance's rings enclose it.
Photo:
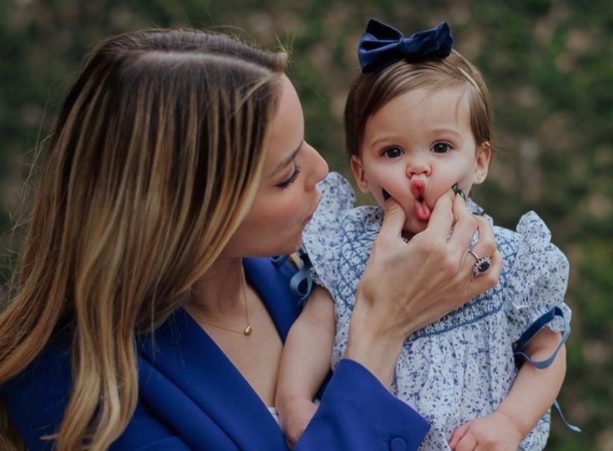
M 364 129 L 383 105 L 415 89 L 464 89 L 468 95 L 470 129 L 477 145 L 492 140 L 492 103 L 477 67 L 460 53 L 418 63 L 399 61 L 385 69 L 357 74 L 345 104 L 345 146 L 349 156 L 360 155 Z

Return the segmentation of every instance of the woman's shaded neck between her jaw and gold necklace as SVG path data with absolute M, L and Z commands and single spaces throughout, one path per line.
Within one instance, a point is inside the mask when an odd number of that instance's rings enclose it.
M 218 258 L 192 286 L 185 307 L 210 322 L 243 319 L 246 290 L 242 259 Z

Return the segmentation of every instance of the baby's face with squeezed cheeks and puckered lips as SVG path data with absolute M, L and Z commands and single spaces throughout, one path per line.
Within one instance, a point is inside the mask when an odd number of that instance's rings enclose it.
M 419 233 L 451 185 L 468 194 L 485 180 L 491 153 L 488 143 L 475 143 L 463 90 L 417 89 L 369 117 L 351 166 L 363 192 L 383 206 L 385 189 L 407 214 L 404 229 Z

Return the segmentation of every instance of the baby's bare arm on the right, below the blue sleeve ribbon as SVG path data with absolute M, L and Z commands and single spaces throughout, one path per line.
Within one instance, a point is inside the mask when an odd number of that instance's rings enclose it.
M 545 360 L 560 343 L 560 334 L 547 327 L 526 346 L 533 360 Z M 522 365 L 508 396 L 488 417 L 463 424 L 454 431 L 449 447 L 454 451 L 473 450 L 478 443 L 484 450 L 517 450 L 537 421 L 553 405 L 566 373 L 566 349 L 544 370 L 529 362 Z

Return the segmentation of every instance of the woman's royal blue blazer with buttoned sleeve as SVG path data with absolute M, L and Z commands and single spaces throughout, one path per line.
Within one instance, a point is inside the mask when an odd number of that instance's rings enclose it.
M 244 267 L 285 340 L 301 310 L 289 291 L 294 268 L 269 259 L 245 259 Z M 70 396 L 68 345 L 53 341 L 0 387 L 30 451 L 52 449 L 39 437 L 58 430 Z M 138 367 L 138 407 L 110 450 L 288 450 L 261 398 L 183 308 L 138 340 Z M 429 427 L 362 365 L 344 359 L 295 450 L 416 450 Z

